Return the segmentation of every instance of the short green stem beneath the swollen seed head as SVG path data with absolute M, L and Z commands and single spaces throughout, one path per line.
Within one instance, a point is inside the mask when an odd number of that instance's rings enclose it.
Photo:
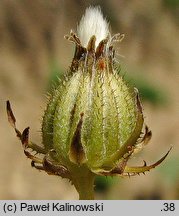
M 89 169 L 82 167 L 73 175 L 73 184 L 79 193 L 80 200 L 94 200 L 95 174 Z

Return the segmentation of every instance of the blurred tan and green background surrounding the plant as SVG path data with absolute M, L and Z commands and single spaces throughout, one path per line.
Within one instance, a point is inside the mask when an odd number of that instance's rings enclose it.
M 0 199 L 78 199 L 67 180 L 30 167 L 7 122 L 10 100 L 17 126 L 30 126 L 41 143 L 41 118 L 57 76 L 68 70 L 76 30 L 85 8 L 100 5 L 116 44 L 121 74 L 142 97 L 150 144 L 130 164 L 148 164 L 173 146 L 160 167 L 131 178 L 96 179 L 97 199 L 179 199 L 179 0 L 1 0 L 0 1 Z

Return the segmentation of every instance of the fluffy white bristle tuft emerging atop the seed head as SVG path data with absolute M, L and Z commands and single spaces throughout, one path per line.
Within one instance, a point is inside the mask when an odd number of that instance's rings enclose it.
M 109 24 L 100 7 L 89 7 L 77 27 L 82 46 L 86 47 L 91 36 L 96 36 L 96 46 L 109 35 Z

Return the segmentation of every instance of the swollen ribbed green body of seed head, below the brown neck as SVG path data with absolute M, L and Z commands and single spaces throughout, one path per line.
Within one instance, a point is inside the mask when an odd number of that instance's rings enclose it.
M 93 64 L 91 70 L 79 67 L 55 91 L 42 127 L 44 146 L 55 149 L 60 160 L 64 157 L 64 165 L 86 163 L 91 170 L 102 167 L 125 144 L 138 112 L 134 89 L 115 70 Z M 109 169 L 115 162 L 110 161 Z

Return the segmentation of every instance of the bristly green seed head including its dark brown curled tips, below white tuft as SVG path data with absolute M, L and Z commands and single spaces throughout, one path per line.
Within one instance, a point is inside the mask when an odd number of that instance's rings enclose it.
M 78 35 L 66 36 L 76 44 L 75 55 L 42 124 L 43 144 L 55 150 L 55 160 L 67 168 L 85 164 L 92 172 L 112 170 L 130 153 L 130 139 L 135 146 L 143 125 L 137 90 L 120 76 L 114 57 L 113 42 L 123 35 L 107 35 L 98 44 L 96 37 L 83 47 Z

